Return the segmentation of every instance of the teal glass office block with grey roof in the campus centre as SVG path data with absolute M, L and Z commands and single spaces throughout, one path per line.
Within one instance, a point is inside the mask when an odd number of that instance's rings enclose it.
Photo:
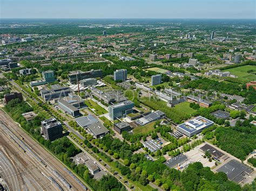
M 134 103 L 130 100 L 109 105 L 109 116 L 112 120 L 125 117 L 133 111 Z

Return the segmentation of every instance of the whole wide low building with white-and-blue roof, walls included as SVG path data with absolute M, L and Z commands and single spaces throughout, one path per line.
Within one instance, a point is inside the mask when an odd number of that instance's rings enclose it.
M 177 130 L 187 137 L 193 137 L 214 123 L 204 117 L 196 117 L 177 126 Z

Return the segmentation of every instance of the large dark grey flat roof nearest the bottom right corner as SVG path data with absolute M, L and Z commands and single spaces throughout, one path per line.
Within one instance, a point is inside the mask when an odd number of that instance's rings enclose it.
M 227 178 L 229 180 L 239 183 L 242 179 L 244 179 L 242 174 L 250 174 L 252 169 L 233 159 L 217 169 L 217 172 L 224 172 L 227 174 Z

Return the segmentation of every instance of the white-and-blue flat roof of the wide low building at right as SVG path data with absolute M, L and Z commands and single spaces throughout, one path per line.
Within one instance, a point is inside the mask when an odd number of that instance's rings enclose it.
M 213 122 L 210 121 L 209 119 L 206 119 L 205 117 L 202 117 L 202 116 L 198 116 L 194 119 L 191 119 L 190 121 L 187 121 L 185 123 L 178 125 L 177 127 L 183 129 L 188 133 L 193 133 L 194 131 L 204 129 L 212 124 Z

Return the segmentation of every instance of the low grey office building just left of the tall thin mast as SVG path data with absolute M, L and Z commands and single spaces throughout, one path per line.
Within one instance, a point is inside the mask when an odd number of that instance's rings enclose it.
M 69 87 L 63 87 L 59 84 L 55 84 L 51 86 L 51 89 L 44 88 L 41 90 L 41 96 L 44 101 L 51 101 L 53 99 L 60 99 L 62 97 L 66 97 L 71 93 L 71 89 Z

